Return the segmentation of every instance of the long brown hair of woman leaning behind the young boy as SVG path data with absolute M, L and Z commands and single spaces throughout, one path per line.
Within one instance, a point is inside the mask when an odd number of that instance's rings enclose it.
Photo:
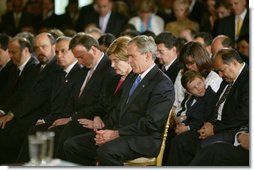
M 212 70 L 212 61 L 209 53 L 200 43 L 188 42 L 182 47 L 179 60 L 184 64 L 184 72 L 188 70 L 185 66 L 188 57 L 194 59 L 198 70 L 203 77 L 206 77 Z

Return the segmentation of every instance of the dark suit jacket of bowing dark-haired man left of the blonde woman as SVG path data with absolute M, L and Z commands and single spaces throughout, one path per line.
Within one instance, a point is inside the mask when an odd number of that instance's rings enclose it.
M 103 87 L 107 83 L 107 80 L 114 75 L 116 73 L 111 67 L 111 61 L 108 59 L 108 56 L 104 55 L 80 97 L 81 85 L 75 88 L 73 99 L 68 104 L 63 116 L 66 117 L 72 114 L 73 120 L 78 118 L 93 119 L 95 115 L 102 118 L 105 115 L 105 109 L 99 102 L 105 95 Z

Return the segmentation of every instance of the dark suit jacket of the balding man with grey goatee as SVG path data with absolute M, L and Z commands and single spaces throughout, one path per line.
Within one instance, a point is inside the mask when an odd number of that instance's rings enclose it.
M 37 66 L 39 70 L 40 65 Z M 53 58 L 45 68 L 38 73 L 32 89 L 26 96 L 24 101 L 12 107 L 11 111 L 14 118 L 19 119 L 28 116 L 29 119 L 35 122 L 42 117 L 42 114 L 48 111 L 52 85 L 56 74 L 60 72 L 60 67 L 56 64 L 56 59 Z

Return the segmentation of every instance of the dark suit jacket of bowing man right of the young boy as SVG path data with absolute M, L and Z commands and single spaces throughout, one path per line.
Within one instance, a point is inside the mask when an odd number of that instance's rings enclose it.
M 221 86 L 218 92 L 224 89 Z M 214 124 L 214 132 L 238 130 L 249 123 L 249 66 L 245 64 L 234 82 L 222 109 L 222 118 Z

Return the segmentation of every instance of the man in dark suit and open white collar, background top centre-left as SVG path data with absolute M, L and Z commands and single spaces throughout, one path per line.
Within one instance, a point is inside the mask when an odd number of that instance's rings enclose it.
M 118 36 L 123 31 L 125 24 L 127 24 L 127 19 L 119 13 L 112 11 L 113 3 L 113 0 L 95 0 L 96 11 L 92 19 L 88 16 L 84 16 L 90 20 L 86 22 L 86 24 L 95 24 L 103 33 L 112 33 Z M 89 16 L 90 15 L 91 14 L 89 14 Z M 84 19 L 84 21 L 87 19 Z M 81 26 L 83 30 L 84 26 L 85 25 Z

